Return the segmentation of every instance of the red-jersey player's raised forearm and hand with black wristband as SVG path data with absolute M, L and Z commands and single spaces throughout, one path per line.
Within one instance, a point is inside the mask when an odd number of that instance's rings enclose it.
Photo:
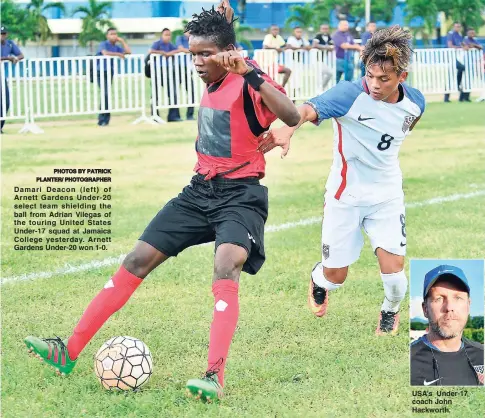
M 248 84 L 259 92 L 266 107 L 288 126 L 295 126 L 300 121 L 300 114 L 293 102 L 278 89 L 256 74 L 236 51 L 219 52 L 209 59 L 224 67 L 226 71 L 243 76 Z

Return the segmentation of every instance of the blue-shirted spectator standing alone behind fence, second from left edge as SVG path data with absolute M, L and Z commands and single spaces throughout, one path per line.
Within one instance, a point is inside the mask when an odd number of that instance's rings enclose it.
M 118 42 L 121 43 L 122 46 L 116 45 Z M 118 32 L 116 28 L 108 28 L 106 31 L 106 41 L 103 41 L 99 44 L 97 56 L 109 56 L 109 57 L 118 57 L 118 58 L 125 58 L 125 55 L 131 54 L 130 47 L 125 42 L 125 40 L 118 36 Z M 104 97 L 101 97 L 101 105 L 100 110 L 108 110 L 109 109 L 109 86 L 113 83 L 113 76 L 114 76 L 114 58 L 111 58 L 109 61 L 106 60 L 101 66 L 101 62 L 99 62 L 100 68 L 98 68 L 98 86 L 100 88 L 101 94 L 103 94 L 104 89 Z M 109 65 L 108 65 L 109 64 Z M 110 67 L 110 75 L 108 77 L 108 68 Z M 109 83 L 108 83 L 109 79 Z M 103 102 L 104 98 L 104 102 Z M 108 126 L 109 120 L 111 118 L 111 114 L 100 113 L 98 116 L 98 125 L 99 126 Z

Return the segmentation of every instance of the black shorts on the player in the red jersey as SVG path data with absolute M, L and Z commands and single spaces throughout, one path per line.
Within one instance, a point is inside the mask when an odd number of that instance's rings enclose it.
M 205 242 L 246 249 L 243 271 L 256 274 L 264 263 L 268 189 L 257 178 L 204 180 L 197 174 L 152 219 L 140 237 L 168 256 Z

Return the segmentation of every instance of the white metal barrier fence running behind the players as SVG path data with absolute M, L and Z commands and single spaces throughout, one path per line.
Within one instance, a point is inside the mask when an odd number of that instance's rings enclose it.
M 355 79 L 360 65 L 357 54 L 354 58 Z M 254 59 L 280 82 L 282 66 L 291 70 L 285 89 L 292 100 L 320 94 L 336 81 L 334 52 L 256 50 Z M 458 72 L 462 72 L 462 91 L 485 90 L 484 57 L 479 50 L 417 50 L 408 82 L 424 94 L 453 93 L 458 91 Z M 140 114 L 134 123 L 163 122 L 160 110 L 197 107 L 205 88 L 190 54 L 185 53 L 169 58 L 151 55 L 148 61 L 143 55 L 3 61 L 0 76 L 0 119 L 23 120 L 23 132 L 40 132 L 36 119 L 98 113 L 134 112 Z

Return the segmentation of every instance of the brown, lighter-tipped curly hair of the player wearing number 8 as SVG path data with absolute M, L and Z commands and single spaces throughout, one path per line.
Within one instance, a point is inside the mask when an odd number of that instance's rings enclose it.
M 400 75 L 406 71 L 411 60 L 411 32 L 394 25 L 380 29 L 372 35 L 362 52 L 366 68 L 377 64 L 382 69 L 386 61 L 391 61 L 394 71 Z

